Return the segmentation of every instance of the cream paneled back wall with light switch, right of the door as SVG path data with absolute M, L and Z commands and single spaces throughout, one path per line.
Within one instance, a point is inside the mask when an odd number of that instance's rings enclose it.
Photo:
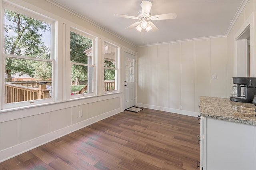
M 137 106 L 197 116 L 200 96 L 230 96 L 226 37 L 138 47 L 137 52 Z

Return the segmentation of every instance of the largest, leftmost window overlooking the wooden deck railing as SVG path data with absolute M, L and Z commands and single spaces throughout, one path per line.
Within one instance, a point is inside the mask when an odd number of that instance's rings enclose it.
M 53 101 L 54 22 L 6 5 L 3 23 L 4 108 Z

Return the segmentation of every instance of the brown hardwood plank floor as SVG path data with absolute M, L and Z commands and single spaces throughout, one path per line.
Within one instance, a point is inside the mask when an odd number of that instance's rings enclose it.
M 0 164 L 1 170 L 195 170 L 197 117 L 124 111 Z

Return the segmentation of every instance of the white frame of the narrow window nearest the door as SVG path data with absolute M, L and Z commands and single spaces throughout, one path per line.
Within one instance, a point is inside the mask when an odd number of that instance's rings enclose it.
M 110 68 L 110 67 L 104 67 L 104 45 L 108 45 L 112 48 L 116 49 L 116 57 L 115 57 L 115 62 L 116 62 L 116 68 Z M 117 45 L 114 45 L 113 43 L 104 41 L 103 43 L 103 52 L 102 52 L 102 58 L 103 58 L 103 89 L 104 87 L 104 82 L 105 82 L 105 69 L 111 69 L 111 70 L 116 70 L 116 75 L 115 75 L 115 90 L 110 90 L 110 91 L 104 91 L 104 94 L 109 94 L 109 93 L 116 93 L 119 92 L 119 81 L 120 81 L 120 63 L 119 63 L 119 57 L 120 57 L 120 47 L 118 47 Z M 110 61 L 110 60 L 108 60 Z

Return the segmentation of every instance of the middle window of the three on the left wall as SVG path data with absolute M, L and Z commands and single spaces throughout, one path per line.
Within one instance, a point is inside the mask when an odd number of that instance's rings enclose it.
M 84 32 L 70 32 L 71 95 L 94 95 L 94 38 Z

